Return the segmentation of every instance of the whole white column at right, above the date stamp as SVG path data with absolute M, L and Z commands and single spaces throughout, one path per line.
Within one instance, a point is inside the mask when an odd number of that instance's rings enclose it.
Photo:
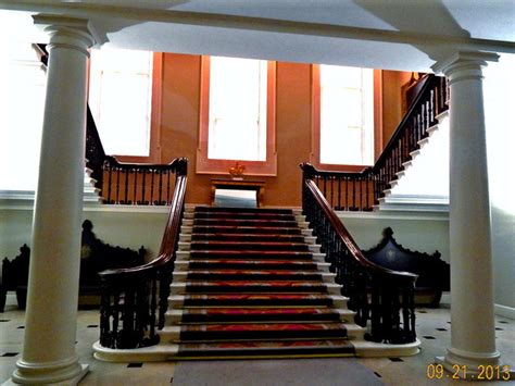
M 495 53 L 459 52 L 438 62 L 451 88 L 450 254 L 451 347 L 445 369 L 474 377 L 478 365 L 499 364 L 493 316 L 490 200 L 482 67 Z

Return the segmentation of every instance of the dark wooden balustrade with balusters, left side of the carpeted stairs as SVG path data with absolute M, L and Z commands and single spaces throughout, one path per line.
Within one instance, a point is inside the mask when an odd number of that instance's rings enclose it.
M 175 159 L 175 190 L 158 257 L 147 264 L 100 272 L 100 345 L 130 349 L 156 345 L 163 328 L 185 210 L 187 159 Z M 123 323 L 121 323 L 121 321 Z

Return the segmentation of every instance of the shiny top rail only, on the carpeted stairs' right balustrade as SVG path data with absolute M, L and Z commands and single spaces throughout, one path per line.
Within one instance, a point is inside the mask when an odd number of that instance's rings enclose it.
M 302 165 L 301 165 L 302 167 Z M 354 238 L 351 236 L 349 231 L 347 231 L 346 226 L 343 223 L 340 221 L 338 215 L 335 213 L 332 208 L 329 206 L 327 200 L 325 199 L 324 195 L 321 192 L 316 184 L 311 180 L 306 179 L 305 180 L 307 189 L 313 194 L 316 202 L 321 206 L 321 209 L 324 211 L 324 214 L 327 216 L 329 220 L 330 224 L 332 225 L 337 236 L 340 238 L 340 240 L 346 245 L 346 247 L 349 249 L 351 252 L 352 258 L 360 263 L 363 267 L 366 267 L 367 270 L 372 270 L 375 273 L 381 274 L 381 275 L 391 275 L 391 276 L 398 276 L 398 277 L 403 277 L 405 279 L 410 281 L 415 281 L 418 275 L 411 273 L 411 272 L 402 272 L 402 271 L 393 271 L 386 269 L 384 266 L 377 265 L 369 261 L 361 251 L 360 247 L 357 247 L 357 244 L 354 241 Z

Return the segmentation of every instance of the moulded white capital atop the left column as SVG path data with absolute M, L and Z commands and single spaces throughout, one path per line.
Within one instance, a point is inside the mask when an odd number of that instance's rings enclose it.
M 86 18 L 50 14 L 34 15 L 33 18 L 34 24 L 50 35 L 50 50 L 54 47 L 67 47 L 89 57 L 88 49 L 100 41 L 91 22 Z

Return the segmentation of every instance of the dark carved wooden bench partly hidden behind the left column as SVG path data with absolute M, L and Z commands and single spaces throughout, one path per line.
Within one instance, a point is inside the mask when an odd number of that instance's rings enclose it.
M 112 247 L 98 239 L 92 232 L 93 224 L 89 220 L 83 223 L 80 248 L 79 306 L 92 307 L 100 304 L 100 271 L 141 265 L 145 263 L 147 250 L 138 251 L 129 248 Z M 5 304 L 7 291 L 16 291 L 20 309 L 25 309 L 28 283 L 28 264 L 30 248 L 25 244 L 20 254 L 12 260 L 3 259 L 2 284 L 0 285 L 0 312 Z M 3 303 L 2 303 L 3 299 Z

